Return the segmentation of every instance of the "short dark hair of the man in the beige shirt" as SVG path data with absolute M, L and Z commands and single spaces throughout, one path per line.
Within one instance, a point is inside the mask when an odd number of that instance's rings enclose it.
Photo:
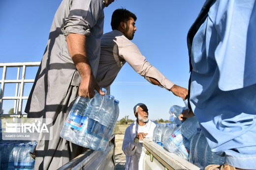
M 117 29 L 121 22 L 127 23 L 128 20 L 130 19 L 129 17 L 133 18 L 134 21 L 137 20 L 136 15 L 131 13 L 127 9 L 124 9 L 124 8 L 116 9 L 113 12 L 112 18 L 111 18 L 112 30 Z

